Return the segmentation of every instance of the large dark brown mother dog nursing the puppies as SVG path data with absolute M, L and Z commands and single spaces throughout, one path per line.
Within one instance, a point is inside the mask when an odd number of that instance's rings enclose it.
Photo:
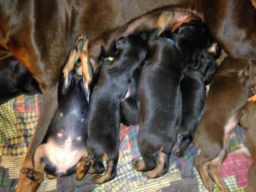
M 89 54 L 97 60 L 110 53 L 119 37 L 150 30 L 159 12 L 174 10 L 169 27 L 193 14 L 206 23 L 229 55 L 256 60 L 256 10 L 251 1 L 1 1 L 0 59 L 14 55 L 36 78 L 43 93 L 41 116 L 22 167 L 33 167 L 32 154 L 43 140 L 57 108 L 60 68 L 75 47 L 79 33 L 85 31 L 94 39 Z M 20 175 L 17 191 L 37 187 L 38 184 Z

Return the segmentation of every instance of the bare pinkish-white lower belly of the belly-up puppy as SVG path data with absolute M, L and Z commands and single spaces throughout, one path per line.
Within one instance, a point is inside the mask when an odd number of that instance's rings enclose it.
M 44 156 L 52 165 L 56 166 L 55 174 L 65 174 L 68 169 L 74 167 L 84 154 L 84 149 L 78 149 L 72 145 L 71 140 L 64 140 L 63 145 L 57 145 L 53 141 L 44 144 Z

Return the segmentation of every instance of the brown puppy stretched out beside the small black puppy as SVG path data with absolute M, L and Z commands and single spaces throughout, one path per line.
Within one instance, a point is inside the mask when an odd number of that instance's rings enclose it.
M 194 159 L 209 191 L 213 190 L 212 180 L 222 191 L 229 191 L 219 176 L 219 169 L 229 152 L 230 132 L 238 123 L 249 96 L 249 88 L 244 86 L 242 77 L 249 64 L 247 60 L 226 58 L 210 84 L 204 114 L 195 133 L 201 153 Z

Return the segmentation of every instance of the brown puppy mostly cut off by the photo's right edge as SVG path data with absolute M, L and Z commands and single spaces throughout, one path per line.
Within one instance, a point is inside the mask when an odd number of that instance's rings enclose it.
M 246 130 L 246 141 L 254 164 L 249 169 L 248 191 L 256 189 L 256 102 L 247 102 L 240 118 L 241 126 Z

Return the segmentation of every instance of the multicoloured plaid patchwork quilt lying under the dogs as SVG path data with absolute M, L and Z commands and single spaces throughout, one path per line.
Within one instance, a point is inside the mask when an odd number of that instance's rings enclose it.
M 21 95 L 0 106 L 0 191 L 14 191 L 19 170 L 29 141 L 36 127 L 41 95 Z M 200 149 L 190 146 L 184 158 L 172 155 L 167 174 L 147 179 L 132 168 L 131 160 L 140 157 L 136 142 L 138 126 L 122 126 L 117 175 L 114 180 L 101 185 L 90 182 L 87 174 L 82 181 L 76 175 L 48 180 L 37 191 L 206 191 L 193 159 Z M 180 142 L 181 138 L 178 138 Z M 220 168 L 220 176 L 231 191 L 245 191 L 247 172 L 252 164 L 246 148 L 245 131 L 236 126 L 230 140 L 231 150 Z M 178 146 L 175 145 L 174 149 Z M 219 191 L 214 186 L 214 191 Z

